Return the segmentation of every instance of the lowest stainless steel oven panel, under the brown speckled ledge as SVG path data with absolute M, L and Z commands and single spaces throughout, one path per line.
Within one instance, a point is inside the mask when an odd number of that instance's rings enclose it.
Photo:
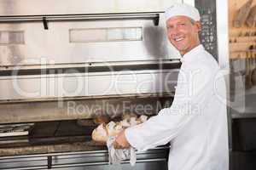
M 121 165 L 108 165 L 108 150 L 79 151 L 68 153 L 38 154 L 28 156 L 0 157 L 0 169 L 167 169 L 166 156 L 168 147 L 137 152 L 137 164 L 131 167 L 129 161 Z

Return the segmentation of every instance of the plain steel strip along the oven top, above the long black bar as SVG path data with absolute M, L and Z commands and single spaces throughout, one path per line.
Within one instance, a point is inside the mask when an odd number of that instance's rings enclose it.
M 173 2 L 182 0 L 1 0 L 0 15 L 41 15 L 41 14 L 102 14 L 120 12 L 163 11 Z

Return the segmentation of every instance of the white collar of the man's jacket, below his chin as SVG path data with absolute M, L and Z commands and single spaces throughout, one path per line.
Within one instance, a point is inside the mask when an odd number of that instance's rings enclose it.
M 203 50 L 205 50 L 205 48 L 201 44 L 199 44 L 195 48 L 191 49 L 188 53 L 184 54 L 180 60 L 181 60 L 181 62 L 194 61 L 194 60 L 198 59 L 198 57 L 201 56 L 198 54 L 201 53 L 201 51 L 203 51 Z

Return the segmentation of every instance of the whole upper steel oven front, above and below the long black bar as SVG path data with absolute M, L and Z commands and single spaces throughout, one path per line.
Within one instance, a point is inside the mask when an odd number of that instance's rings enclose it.
M 166 45 L 169 42 L 166 40 L 165 19 L 160 12 L 173 2 L 178 1 L 149 1 L 147 3 L 144 1 L 126 3 L 113 0 L 104 3 L 81 0 L 65 3 L 54 1 L 50 3 L 51 6 L 58 6 L 58 8 L 49 8 L 49 3 L 41 0 L 37 3 L 31 0 L 25 0 L 22 3 L 15 0 L 2 0 L 1 6 L 8 9 L 0 13 L 0 32 L 23 31 L 25 42 L 12 44 L 11 47 L 11 44 L 0 46 L 0 63 L 1 65 L 48 65 L 178 58 L 176 50 Z M 83 7 L 84 5 L 86 6 Z M 114 11 L 111 8 L 112 5 L 114 5 Z M 37 10 L 34 10 L 35 8 Z M 106 11 L 107 8 L 108 11 Z M 154 19 L 159 14 L 160 24 L 154 26 L 154 22 L 148 19 Z M 48 30 L 44 30 L 43 18 L 49 25 Z M 52 22 L 56 20 L 59 22 Z M 128 31 L 123 33 L 129 35 L 133 33 L 129 31 L 129 28 L 133 27 L 143 28 L 140 41 L 129 41 L 124 38 L 121 42 L 76 43 L 70 39 L 70 32 L 76 29 L 126 28 Z M 114 31 L 109 33 L 110 37 L 115 37 L 115 35 Z M 84 37 L 89 36 L 90 33 L 84 34 Z

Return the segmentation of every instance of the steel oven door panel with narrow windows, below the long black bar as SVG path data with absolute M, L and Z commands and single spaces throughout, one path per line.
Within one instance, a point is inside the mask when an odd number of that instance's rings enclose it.
M 162 15 L 160 15 L 162 17 Z M 49 23 L 49 30 L 44 30 L 42 23 L 0 24 L 0 31 L 24 32 L 24 44 L 4 44 L 0 46 L 0 64 L 7 65 L 53 65 L 77 64 L 90 62 L 177 59 L 176 50 L 166 45 L 164 20 L 160 26 L 154 26 L 152 20 L 101 20 Z M 129 29 L 142 27 L 142 39 L 106 42 L 72 42 L 73 30 L 109 30 L 111 28 Z M 121 31 L 121 30 L 119 30 Z M 90 34 L 84 32 L 84 37 Z M 109 34 L 109 36 L 114 35 Z M 100 50 L 99 50 L 100 49 Z M 5 67 L 2 67 L 5 68 Z

